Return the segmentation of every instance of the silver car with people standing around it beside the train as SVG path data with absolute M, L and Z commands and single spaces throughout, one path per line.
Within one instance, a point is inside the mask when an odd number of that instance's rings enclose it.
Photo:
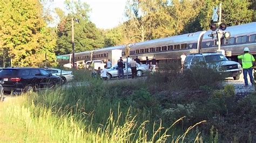
M 130 68 L 130 65 L 128 65 L 128 69 L 127 69 L 126 65 L 127 65 L 127 63 L 124 62 L 124 76 L 127 76 L 127 74 L 132 75 L 132 69 Z M 110 69 L 107 69 L 107 71 L 108 71 L 108 74 L 107 74 L 108 79 L 113 78 L 113 77 L 117 77 L 118 76 L 118 66 L 117 66 L 117 64 L 112 66 Z M 145 64 L 139 65 L 138 64 L 137 76 L 138 77 L 142 76 L 145 71 L 149 71 L 149 65 L 145 65 Z

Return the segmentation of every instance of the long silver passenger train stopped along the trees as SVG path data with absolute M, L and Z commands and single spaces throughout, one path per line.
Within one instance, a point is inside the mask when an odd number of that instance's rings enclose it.
M 227 58 L 230 60 L 238 61 L 237 55 L 243 53 L 244 47 L 250 48 L 250 53 L 256 55 L 256 22 L 230 26 L 225 31 L 231 33 L 228 39 L 221 39 L 221 49 L 229 52 Z M 122 56 L 125 58 L 125 47 L 130 47 L 130 56 L 138 56 L 140 60 L 145 62 L 146 56 L 152 59 L 153 56 L 161 61 L 170 59 L 179 59 L 182 53 L 205 53 L 216 52 L 218 49 L 218 39 L 212 38 L 209 35 L 213 31 L 199 31 L 194 33 L 175 35 L 167 38 L 160 38 L 137 42 L 129 45 L 120 45 L 114 47 L 105 47 L 95 49 L 93 51 L 85 51 L 75 53 L 75 61 L 89 61 L 89 60 L 103 60 L 107 62 L 108 52 L 113 49 L 122 49 Z M 71 63 L 72 54 L 66 54 L 69 60 L 58 59 L 59 65 Z

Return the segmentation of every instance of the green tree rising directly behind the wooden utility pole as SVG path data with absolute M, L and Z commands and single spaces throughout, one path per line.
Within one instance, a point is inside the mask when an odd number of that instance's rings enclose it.
M 75 51 L 83 52 L 102 48 L 104 38 L 95 24 L 88 20 L 87 12 L 90 10 L 86 3 L 65 1 L 69 14 L 63 16 L 60 9 L 56 9 L 60 22 L 57 30 L 56 54 L 69 54 L 72 52 L 71 45 L 71 18 L 75 19 Z

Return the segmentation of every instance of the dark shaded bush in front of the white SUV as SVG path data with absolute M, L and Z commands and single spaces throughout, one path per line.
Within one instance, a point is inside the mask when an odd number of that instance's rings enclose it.
M 156 73 L 150 74 L 147 78 L 147 81 L 158 90 L 184 90 L 200 87 L 216 89 L 225 79 L 224 74 L 206 66 L 197 66 L 182 71 L 179 62 L 170 61 L 159 67 Z

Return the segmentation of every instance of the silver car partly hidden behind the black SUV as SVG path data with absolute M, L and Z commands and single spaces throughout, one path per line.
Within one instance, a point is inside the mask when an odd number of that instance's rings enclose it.
M 57 69 L 57 68 L 48 68 L 46 69 L 49 71 L 49 73 L 52 73 L 52 75 L 56 75 L 59 77 L 62 77 L 62 83 L 70 82 L 74 80 L 74 76 L 72 75 L 72 71 L 65 71 L 62 69 Z

